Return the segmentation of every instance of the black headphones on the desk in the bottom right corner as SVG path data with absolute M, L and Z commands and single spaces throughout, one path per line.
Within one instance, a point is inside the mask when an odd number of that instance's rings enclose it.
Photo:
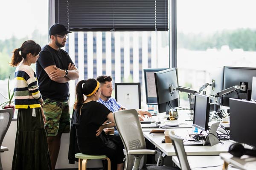
M 256 156 L 256 150 L 245 149 L 240 143 L 231 144 L 228 152 L 236 157 L 241 157 L 242 155 Z

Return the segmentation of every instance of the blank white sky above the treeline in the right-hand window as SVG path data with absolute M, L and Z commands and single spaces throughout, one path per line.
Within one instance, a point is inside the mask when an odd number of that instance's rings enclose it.
M 256 28 L 256 0 L 177 0 L 177 31 Z

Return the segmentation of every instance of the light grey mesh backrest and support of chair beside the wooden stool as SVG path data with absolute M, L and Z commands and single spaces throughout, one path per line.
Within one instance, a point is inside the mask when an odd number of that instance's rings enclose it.
M 128 150 L 146 149 L 140 119 L 135 109 L 114 112 L 116 129 L 118 130 L 126 153 Z M 127 154 L 126 154 L 127 155 Z M 145 165 L 146 156 L 140 160 L 140 168 Z M 125 170 L 131 170 L 134 165 L 134 156 L 126 157 Z

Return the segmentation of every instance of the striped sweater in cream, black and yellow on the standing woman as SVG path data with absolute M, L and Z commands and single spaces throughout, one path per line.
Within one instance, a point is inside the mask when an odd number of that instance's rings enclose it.
M 41 108 L 41 94 L 35 72 L 28 65 L 20 65 L 15 70 L 15 108 Z

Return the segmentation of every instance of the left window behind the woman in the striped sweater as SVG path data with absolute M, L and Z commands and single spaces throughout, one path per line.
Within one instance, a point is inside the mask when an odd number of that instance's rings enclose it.
M 12 51 L 26 40 L 34 40 L 41 46 L 48 42 L 48 2 L 47 0 L 10 0 L 1 2 L 0 34 L 0 93 L 7 96 L 8 77 L 10 88 L 14 90 L 15 67 L 11 67 Z M 4 17 L 5 16 L 5 17 Z M 35 65 L 31 65 L 35 70 Z M 0 95 L 0 103 L 6 101 Z

